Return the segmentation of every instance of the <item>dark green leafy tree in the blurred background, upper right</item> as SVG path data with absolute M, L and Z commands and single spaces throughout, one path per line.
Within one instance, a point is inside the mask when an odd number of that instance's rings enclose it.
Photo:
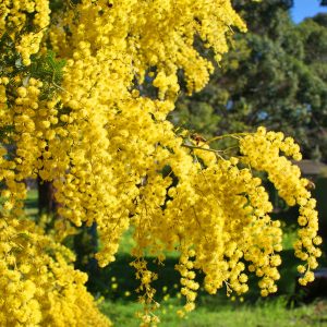
M 292 1 L 234 2 L 250 33 L 235 34 L 221 68 L 202 93 L 182 97 L 173 121 L 207 136 L 264 124 L 327 160 L 326 14 L 295 25 Z

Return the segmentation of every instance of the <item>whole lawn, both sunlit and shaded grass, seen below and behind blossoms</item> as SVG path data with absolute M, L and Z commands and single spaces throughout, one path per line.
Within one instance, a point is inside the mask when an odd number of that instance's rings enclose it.
M 25 207 L 26 214 L 37 215 L 37 192 L 29 191 Z M 300 263 L 292 250 L 296 231 L 292 227 L 286 228 L 283 237 L 282 265 L 280 266 L 281 279 L 278 281 L 278 294 L 268 299 L 261 299 L 256 277 L 250 278 L 250 291 L 240 299 L 231 301 L 221 289 L 217 295 L 208 295 L 199 291 L 197 307 L 186 318 L 180 318 L 177 311 L 183 305 L 179 299 L 179 272 L 174 270 L 178 263 L 178 253 L 167 253 L 165 266 L 157 266 L 154 258 L 147 257 L 150 270 L 156 271 L 159 279 L 154 282 L 157 289 L 156 300 L 160 307 L 156 314 L 160 317 L 162 327 L 327 327 L 327 302 L 319 301 L 310 305 L 287 308 L 287 302 L 294 293 L 296 280 L 296 265 Z M 142 310 L 136 302 L 137 294 L 134 290 L 138 287 L 134 269 L 129 265 L 133 259 L 130 251 L 133 247 L 132 231 L 128 231 L 120 244 L 116 262 L 104 269 L 98 269 L 97 275 L 90 277 L 88 288 L 96 296 L 104 295 L 105 302 L 101 311 L 119 327 L 138 326 L 140 320 L 135 313 Z M 326 249 L 323 265 L 327 265 Z M 202 277 L 198 277 L 198 281 Z

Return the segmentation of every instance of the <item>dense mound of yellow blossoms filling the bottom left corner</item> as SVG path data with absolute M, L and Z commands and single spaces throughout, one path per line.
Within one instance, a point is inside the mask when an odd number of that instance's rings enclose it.
M 0 219 L 1 326 L 111 326 L 73 255 L 29 220 Z

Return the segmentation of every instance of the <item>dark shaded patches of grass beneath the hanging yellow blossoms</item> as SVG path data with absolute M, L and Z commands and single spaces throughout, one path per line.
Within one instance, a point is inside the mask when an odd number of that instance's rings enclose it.
M 300 262 L 294 257 L 292 250 L 286 250 L 281 253 L 282 265 L 280 266 L 280 280 L 278 281 L 278 293 L 269 298 L 277 295 L 291 296 L 295 290 L 296 282 L 296 265 Z M 97 269 L 88 281 L 88 289 L 94 294 L 101 294 L 106 299 L 110 300 L 124 300 L 135 301 L 137 293 L 135 290 L 140 284 L 140 280 L 135 279 L 135 269 L 130 266 L 132 257 L 126 254 L 119 254 L 116 262 L 111 263 L 104 269 Z M 157 290 L 156 299 L 160 301 L 164 296 L 174 298 L 180 291 L 180 274 L 174 269 L 178 264 L 178 258 L 167 258 L 164 266 L 158 266 L 154 263 L 154 258 L 148 257 L 148 268 L 158 274 L 158 279 L 153 282 L 154 288 Z M 244 294 L 244 300 L 249 304 L 253 304 L 261 298 L 259 288 L 257 286 L 258 278 L 249 275 L 250 291 Z M 197 274 L 197 281 L 203 283 L 203 274 Z M 230 302 L 226 296 L 226 289 L 220 289 L 216 295 L 208 295 L 203 288 L 198 292 L 198 303 L 204 305 L 217 305 L 217 302 Z

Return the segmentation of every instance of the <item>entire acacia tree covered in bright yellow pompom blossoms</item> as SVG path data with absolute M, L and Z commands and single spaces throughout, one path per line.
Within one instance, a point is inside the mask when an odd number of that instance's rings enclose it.
M 246 263 L 261 277 L 262 295 L 276 292 L 282 231 L 255 170 L 300 206 L 300 281 L 313 280 L 317 214 L 307 180 L 287 159 L 301 159 L 293 140 L 264 128 L 225 135 L 240 149 L 228 157 L 167 120 L 179 72 L 190 93 L 213 72 L 194 37 L 219 61 L 231 26 L 245 29 L 228 0 L 55 1 L 52 13 L 45 0 L 1 3 L 1 325 L 110 324 L 60 244 L 66 221 L 96 222 L 100 266 L 114 261 L 122 233 L 133 227 L 144 326 L 158 322 L 149 314 L 157 276 L 146 252 L 161 263 L 165 251 L 179 250 L 181 315 L 194 308 L 197 270 L 209 293 L 226 286 L 241 294 Z M 142 93 L 145 80 L 152 97 Z M 37 177 L 56 187 L 56 233 L 24 215 L 24 181 Z

